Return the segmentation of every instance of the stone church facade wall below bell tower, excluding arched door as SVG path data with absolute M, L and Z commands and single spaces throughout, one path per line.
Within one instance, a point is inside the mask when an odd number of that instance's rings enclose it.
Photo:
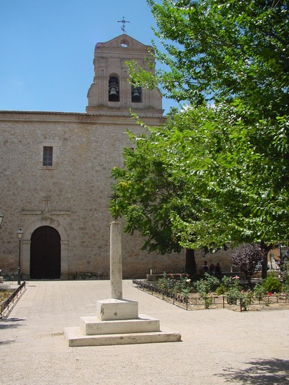
M 22 228 L 22 274 L 29 278 L 32 233 L 48 225 L 60 233 L 63 279 L 109 278 L 110 171 L 122 165 L 123 147 L 131 146 L 128 129 L 140 133 L 134 120 L 124 117 L 0 113 L 4 275 L 17 272 L 16 232 Z M 53 146 L 53 167 L 42 166 L 43 146 Z M 183 255 L 149 255 L 140 246 L 137 235 L 123 235 L 123 278 L 145 277 L 152 265 L 184 263 Z

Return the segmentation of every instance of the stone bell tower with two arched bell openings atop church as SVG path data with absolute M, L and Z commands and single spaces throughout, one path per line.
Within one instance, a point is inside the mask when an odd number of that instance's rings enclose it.
M 135 60 L 149 69 L 147 59 L 154 63 L 153 48 L 126 34 L 106 43 L 97 43 L 94 53 L 94 78 L 88 90 L 86 112 L 105 116 L 128 116 L 130 109 L 140 117 L 161 117 L 162 97 L 159 89 L 147 90 L 128 83 L 126 62 Z

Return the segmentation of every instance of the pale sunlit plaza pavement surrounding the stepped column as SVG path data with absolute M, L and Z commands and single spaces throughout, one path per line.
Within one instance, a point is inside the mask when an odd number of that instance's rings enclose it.
M 1 385 L 289 384 L 289 310 L 186 311 L 123 281 L 182 342 L 68 347 L 63 329 L 109 297 L 109 281 L 27 281 L 0 321 Z

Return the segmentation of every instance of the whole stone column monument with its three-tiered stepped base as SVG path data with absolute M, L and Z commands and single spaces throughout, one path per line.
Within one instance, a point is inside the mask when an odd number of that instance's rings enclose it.
M 112 298 L 96 303 L 96 316 L 83 316 L 79 327 L 65 328 L 69 346 L 99 346 L 176 342 L 179 332 L 160 329 L 159 320 L 138 314 L 138 303 L 122 298 L 121 232 L 118 222 L 110 228 L 110 283 Z

